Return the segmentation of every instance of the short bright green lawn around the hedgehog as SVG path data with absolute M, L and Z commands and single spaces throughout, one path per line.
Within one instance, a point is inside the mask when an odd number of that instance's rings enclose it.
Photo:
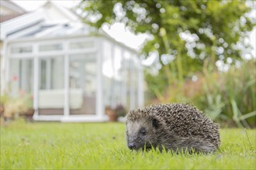
M 120 123 L 16 121 L 1 126 L 1 169 L 255 169 L 255 129 L 220 132 L 215 154 L 171 155 L 130 151 Z

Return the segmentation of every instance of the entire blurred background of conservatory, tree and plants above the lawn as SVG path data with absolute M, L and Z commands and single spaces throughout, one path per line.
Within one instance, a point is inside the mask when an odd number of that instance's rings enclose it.
M 254 1 L 1 1 L 2 119 L 119 121 L 186 102 L 256 126 Z

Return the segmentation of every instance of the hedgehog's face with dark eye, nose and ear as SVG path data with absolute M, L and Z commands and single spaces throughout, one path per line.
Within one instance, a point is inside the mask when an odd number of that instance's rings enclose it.
M 131 150 L 155 147 L 157 144 L 157 120 L 127 121 L 126 140 L 127 146 Z

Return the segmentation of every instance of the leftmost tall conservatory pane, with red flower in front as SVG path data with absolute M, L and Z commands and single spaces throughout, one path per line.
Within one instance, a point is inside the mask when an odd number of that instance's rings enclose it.
M 33 60 L 10 60 L 10 90 L 12 97 L 19 97 L 25 107 L 33 107 Z

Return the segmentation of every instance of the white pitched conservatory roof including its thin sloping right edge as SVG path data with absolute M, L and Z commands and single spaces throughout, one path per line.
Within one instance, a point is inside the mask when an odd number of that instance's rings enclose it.
M 97 35 L 105 36 L 126 49 L 138 52 L 136 49 L 124 45 L 123 42 L 117 42 L 102 29 L 98 31 L 81 22 L 74 12 L 54 2 L 47 2 L 33 12 L 1 22 L 0 26 L 0 40 L 2 41 L 8 39 L 9 42 L 31 42 L 36 39 L 64 39 L 72 36 L 92 36 L 92 32 L 96 32 Z

